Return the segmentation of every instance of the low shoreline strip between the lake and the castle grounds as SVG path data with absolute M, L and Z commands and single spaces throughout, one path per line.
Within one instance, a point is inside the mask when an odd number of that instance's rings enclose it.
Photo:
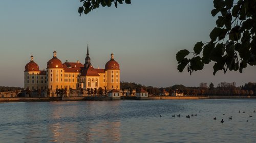
M 0 103 L 11 102 L 51 102 L 51 101 L 105 101 L 105 100 L 200 100 L 200 99 L 256 99 L 256 96 L 150 96 L 138 99 L 136 97 L 12 97 L 0 98 Z

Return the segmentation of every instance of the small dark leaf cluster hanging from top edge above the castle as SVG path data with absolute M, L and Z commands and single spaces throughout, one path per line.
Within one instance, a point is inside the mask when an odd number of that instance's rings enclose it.
M 115 4 L 115 7 L 117 8 L 118 3 L 123 4 L 131 4 L 131 0 L 80 0 L 80 2 L 83 3 L 81 7 L 78 8 L 78 13 L 80 13 L 80 16 L 82 13 L 88 14 L 92 10 L 99 8 L 101 5 L 102 7 L 108 6 L 111 7 L 112 3 Z

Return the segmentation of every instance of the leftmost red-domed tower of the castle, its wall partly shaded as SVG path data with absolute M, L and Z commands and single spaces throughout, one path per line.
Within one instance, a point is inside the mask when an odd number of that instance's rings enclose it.
M 24 89 L 37 89 L 38 74 L 40 73 L 38 65 L 34 62 L 34 56 L 30 56 L 30 62 L 26 64 L 24 71 Z

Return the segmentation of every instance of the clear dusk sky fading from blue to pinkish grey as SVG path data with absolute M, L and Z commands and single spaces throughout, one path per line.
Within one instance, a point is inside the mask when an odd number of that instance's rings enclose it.
M 200 82 L 255 82 L 256 67 L 243 73 L 218 71 L 212 65 L 190 75 L 177 70 L 176 53 L 193 51 L 198 41 L 210 41 L 216 17 L 212 0 L 132 0 L 131 5 L 100 7 L 79 17 L 79 0 L 2 0 L 0 2 L 0 86 L 24 87 L 24 69 L 30 56 L 40 70 L 57 51 L 64 63 L 84 63 L 89 43 L 94 68 L 104 68 L 114 53 L 120 80 L 146 86 Z

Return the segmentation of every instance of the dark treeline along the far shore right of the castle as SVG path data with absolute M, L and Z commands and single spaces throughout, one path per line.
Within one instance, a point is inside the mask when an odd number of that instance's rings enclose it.
M 175 84 L 172 87 L 166 88 L 155 88 L 155 87 L 146 87 L 145 85 L 137 84 L 134 82 L 121 82 L 122 90 L 138 90 L 143 88 L 151 95 L 159 95 L 164 90 L 172 93 L 183 93 L 184 95 L 189 96 L 212 96 L 212 95 L 256 95 L 256 83 L 248 82 L 242 87 L 236 86 L 236 82 L 221 82 L 215 87 L 211 82 L 209 85 L 205 82 L 201 82 L 199 87 L 185 87 L 182 84 Z

